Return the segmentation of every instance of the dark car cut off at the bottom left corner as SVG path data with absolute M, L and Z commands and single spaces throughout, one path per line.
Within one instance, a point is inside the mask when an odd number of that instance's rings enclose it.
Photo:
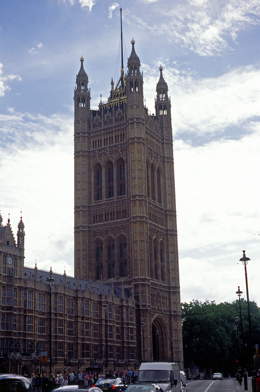
M 16 374 L 0 374 L 1 392 L 33 392 L 29 379 Z

